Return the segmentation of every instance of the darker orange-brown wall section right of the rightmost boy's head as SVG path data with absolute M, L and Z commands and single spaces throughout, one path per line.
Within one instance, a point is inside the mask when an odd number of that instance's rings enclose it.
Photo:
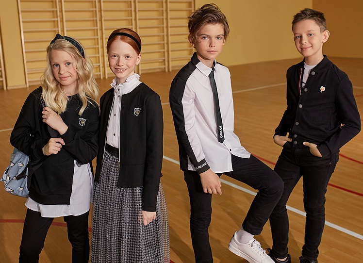
M 314 0 L 313 8 L 324 13 L 330 31 L 324 54 L 363 58 L 363 1 Z

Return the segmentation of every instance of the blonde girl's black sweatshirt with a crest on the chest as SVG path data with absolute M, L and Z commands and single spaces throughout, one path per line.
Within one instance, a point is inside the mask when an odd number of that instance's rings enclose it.
M 69 204 L 72 193 L 74 160 L 90 163 L 98 151 L 99 108 L 88 103 L 82 116 L 78 95 L 68 97 L 67 110 L 61 114 L 68 126 L 64 145 L 57 154 L 45 156 L 42 148 L 51 138 L 42 121 L 42 88 L 35 89 L 25 100 L 10 136 L 10 143 L 27 154 L 31 166 L 42 162 L 31 176 L 29 197 L 40 204 Z M 54 130 L 53 130 L 54 131 Z M 29 179 L 28 179 L 29 180 Z

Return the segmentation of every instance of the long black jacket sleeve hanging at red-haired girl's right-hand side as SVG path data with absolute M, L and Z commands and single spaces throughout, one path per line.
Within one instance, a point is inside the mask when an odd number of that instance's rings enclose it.
M 155 212 L 163 163 L 163 109 L 160 97 L 156 93 L 147 98 L 146 112 L 147 152 L 142 209 Z

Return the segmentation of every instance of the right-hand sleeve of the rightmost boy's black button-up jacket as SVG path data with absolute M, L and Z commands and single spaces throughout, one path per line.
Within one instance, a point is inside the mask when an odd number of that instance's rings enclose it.
M 354 99 L 352 83 L 347 76 L 339 83 L 335 95 L 335 109 L 337 121 L 342 125 L 325 142 L 318 145 L 322 156 L 337 152 L 361 131 L 361 117 Z

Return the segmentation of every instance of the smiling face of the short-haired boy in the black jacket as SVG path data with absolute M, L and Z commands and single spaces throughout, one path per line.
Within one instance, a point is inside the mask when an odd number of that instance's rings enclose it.
M 297 51 L 305 58 L 307 65 L 317 65 L 323 60 L 323 43 L 329 38 L 329 31 L 320 31 L 312 19 L 297 22 L 293 28 Z

